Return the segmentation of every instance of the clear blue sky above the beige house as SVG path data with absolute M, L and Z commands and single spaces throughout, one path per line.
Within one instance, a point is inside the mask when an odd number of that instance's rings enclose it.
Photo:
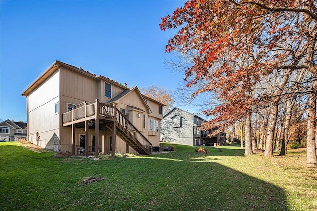
M 129 87 L 175 91 L 183 74 L 165 59 L 161 17 L 184 1 L 0 1 L 0 118 L 26 121 L 20 93 L 54 60 Z M 182 108 L 182 107 L 181 107 Z M 184 109 L 184 108 L 182 108 Z

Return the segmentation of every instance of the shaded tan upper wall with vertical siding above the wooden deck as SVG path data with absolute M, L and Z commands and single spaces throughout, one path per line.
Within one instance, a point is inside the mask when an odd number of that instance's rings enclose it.
M 72 101 L 76 104 L 83 101 L 94 103 L 97 99 L 98 84 L 94 78 L 64 67 L 61 68 L 60 78 L 60 94 L 62 96 L 61 102 L 63 103 L 61 107 L 62 113 L 67 112 L 65 103 L 72 103 Z M 68 102 L 69 100 L 71 101 Z

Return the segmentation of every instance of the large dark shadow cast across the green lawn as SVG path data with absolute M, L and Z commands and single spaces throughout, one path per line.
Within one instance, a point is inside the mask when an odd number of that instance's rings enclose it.
M 214 162 L 221 156 L 180 150 L 60 162 L 2 146 L 1 210 L 290 210 L 281 188 Z M 78 186 L 87 176 L 105 180 Z

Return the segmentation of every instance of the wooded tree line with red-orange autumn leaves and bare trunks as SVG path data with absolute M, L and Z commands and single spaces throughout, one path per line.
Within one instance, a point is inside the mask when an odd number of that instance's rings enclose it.
M 316 0 L 189 0 L 160 28 L 179 29 L 166 52 L 191 59 L 179 65 L 191 97 L 212 96 L 206 129 L 244 122 L 245 154 L 260 134 L 272 157 L 305 119 L 307 166 L 317 166 Z

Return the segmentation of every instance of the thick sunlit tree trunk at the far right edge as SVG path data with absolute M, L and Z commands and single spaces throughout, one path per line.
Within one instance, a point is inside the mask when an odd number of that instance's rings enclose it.
M 317 81 L 314 82 L 314 85 L 317 86 Z M 313 87 L 314 87 L 313 85 Z M 309 93 L 308 96 L 308 117 L 307 117 L 307 167 L 316 167 L 317 166 L 317 157 L 316 157 L 316 89 L 313 88 L 313 91 Z

